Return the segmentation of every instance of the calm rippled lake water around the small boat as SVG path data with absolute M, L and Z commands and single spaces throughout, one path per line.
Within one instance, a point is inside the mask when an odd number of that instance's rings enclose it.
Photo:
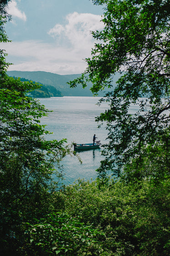
M 67 139 L 68 144 L 93 143 L 93 135 L 96 134 L 102 144 L 106 143 L 107 131 L 105 126 L 97 128 L 95 117 L 104 112 L 108 105 L 102 103 L 97 105 L 100 97 L 52 97 L 39 99 L 41 104 L 48 110 L 53 110 L 48 116 L 41 118 L 41 124 L 46 124 L 46 130 L 53 132 L 47 135 L 49 140 Z M 63 161 L 63 172 L 65 173 L 64 184 L 69 185 L 78 178 L 94 180 L 97 178 L 96 169 L 103 159 L 101 150 L 89 150 L 77 153 L 77 157 L 67 156 Z

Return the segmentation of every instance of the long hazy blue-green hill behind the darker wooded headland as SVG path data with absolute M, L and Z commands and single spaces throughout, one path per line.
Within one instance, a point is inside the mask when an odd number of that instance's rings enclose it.
M 85 89 L 83 89 L 82 86 L 70 88 L 67 84 L 67 82 L 74 80 L 81 74 L 58 75 L 44 71 L 7 71 L 7 75 L 26 78 L 40 84 L 52 85 L 56 87 L 57 90 L 60 90 L 64 96 L 93 96 L 90 91 L 90 87 L 92 87 L 92 84 L 90 83 Z M 108 90 L 106 89 L 106 91 Z M 102 96 L 103 94 L 104 93 L 100 93 L 99 96 Z

